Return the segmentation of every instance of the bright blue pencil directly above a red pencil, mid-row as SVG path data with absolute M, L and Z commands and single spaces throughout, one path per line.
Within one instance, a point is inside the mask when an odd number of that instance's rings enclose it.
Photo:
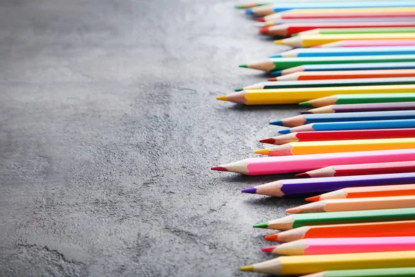
M 332 123 L 311 123 L 284 129 L 279 134 L 289 134 L 291 132 L 309 132 L 309 131 L 338 131 L 338 130 L 355 130 L 355 129 L 398 129 L 414 128 L 415 119 L 400 120 L 373 120 L 373 121 L 347 121 Z

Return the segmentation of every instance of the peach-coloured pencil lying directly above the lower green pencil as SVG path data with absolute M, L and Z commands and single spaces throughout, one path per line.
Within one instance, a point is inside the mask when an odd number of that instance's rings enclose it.
M 286 209 L 286 213 L 329 213 L 344 211 L 385 210 L 387 208 L 415 208 L 415 196 L 326 199 Z

